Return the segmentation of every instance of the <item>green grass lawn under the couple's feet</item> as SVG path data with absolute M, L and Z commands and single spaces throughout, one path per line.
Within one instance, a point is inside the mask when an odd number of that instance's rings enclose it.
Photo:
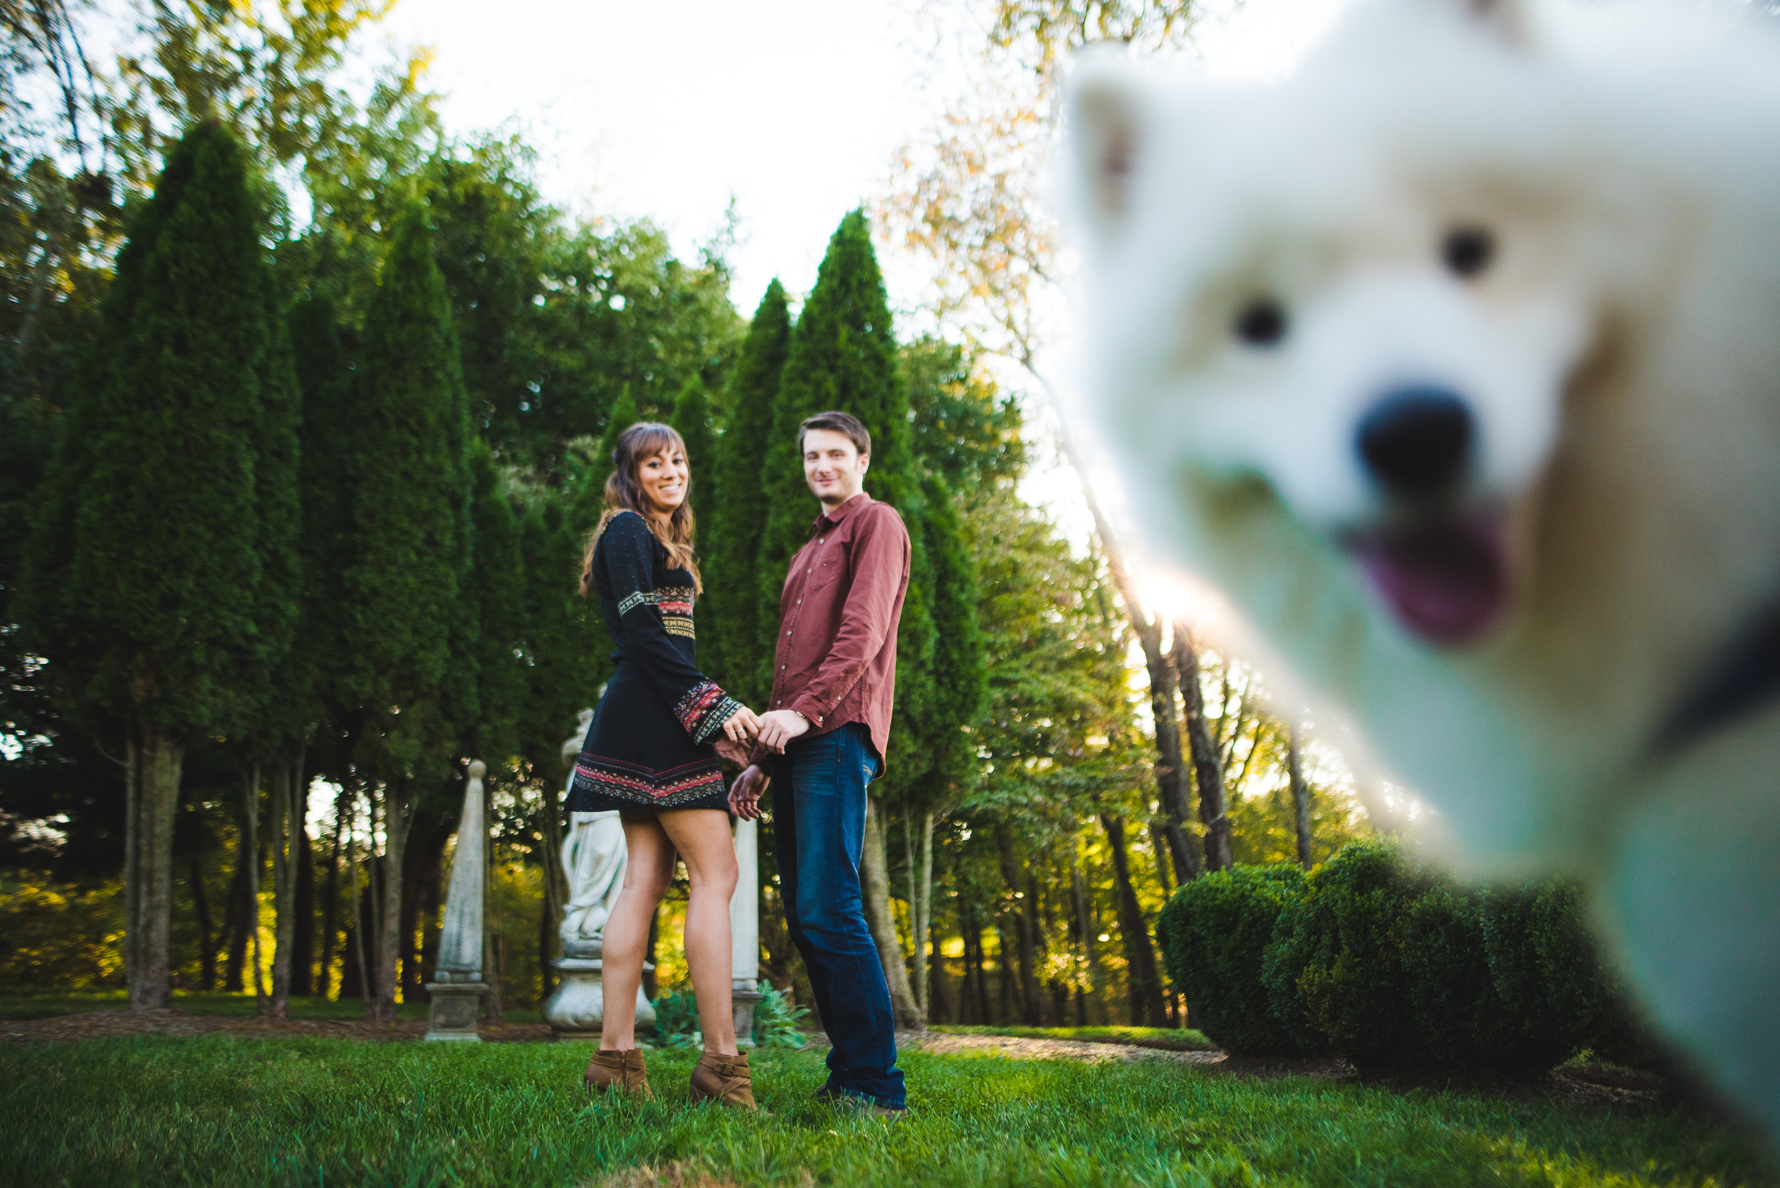
M 904 1053 L 913 1113 L 840 1115 L 817 1053 L 755 1056 L 773 1117 L 589 1101 L 586 1044 L 226 1035 L 0 1049 L 0 1184 L 550 1184 L 691 1161 L 717 1184 L 1776 1184 L 1696 1117 L 1549 1099 L 1248 1081 L 1171 1062 Z M 810 1179 L 805 1179 L 808 1174 Z

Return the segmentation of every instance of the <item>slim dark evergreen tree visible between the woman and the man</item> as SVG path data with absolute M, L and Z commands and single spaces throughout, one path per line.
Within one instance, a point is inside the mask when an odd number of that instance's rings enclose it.
M 700 518 L 700 539 L 708 558 L 705 587 L 717 592 L 712 608 L 698 617 L 700 665 L 749 706 L 764 706 L 769 692 L 760 685 L 769 662 L 760 658 L 760 580 L 755 566 L 769 509 L 764 462 L 789 352 L 790 309 L 785 288 L 774 279 L 755 309 L 742 356 L 730 375 L 730 416 L 717 439 L 712 475 L 716 498 L 707 500 L 710 514 Z M 773 621 L 778 622 L 776 599 Z

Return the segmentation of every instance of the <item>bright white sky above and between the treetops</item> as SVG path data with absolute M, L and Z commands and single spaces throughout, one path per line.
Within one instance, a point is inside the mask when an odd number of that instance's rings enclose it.
M 1340 4 L 1246 0 L 1202 36 L 1207 68 L 1278 73 Z M 744 313 L 773 276 L 815 283 L 835 224 L 931 123 L 951 80 L 929 78 L 929 25 L 913 0 L 400 0 L 384 21 L 436 52 L 454 132 L 518 121 L 552 201 L 648 215 L 692 253 L 733 196 Z

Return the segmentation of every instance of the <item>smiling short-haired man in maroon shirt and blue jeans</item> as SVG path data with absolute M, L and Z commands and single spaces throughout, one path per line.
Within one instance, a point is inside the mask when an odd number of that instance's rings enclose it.
M 894 507 L 860 489 L 872 437 L 858 418 L 819 413 L 803 423 L 797 445 L 822 514 L 790 558 L 773 695 L 730 807 L 758 818 L 771 775 L 785 921 L 835 1044 L 817 1096 L 901 1113 L 908 1096 L 895 1067 L 890 987 L 865 927 L 860 854 L 867 786 L 883 775 L 890 740 L 908 530 Z

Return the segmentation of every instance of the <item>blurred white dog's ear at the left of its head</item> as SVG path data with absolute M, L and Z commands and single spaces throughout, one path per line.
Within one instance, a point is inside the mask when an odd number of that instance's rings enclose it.
M 1096 235 L 1116 231 L 1130 212 L 1145 91 L 1137 69 L 1111 46 L 1084 50 L 1070 73 L 1064 103 L 1070 189 Z

